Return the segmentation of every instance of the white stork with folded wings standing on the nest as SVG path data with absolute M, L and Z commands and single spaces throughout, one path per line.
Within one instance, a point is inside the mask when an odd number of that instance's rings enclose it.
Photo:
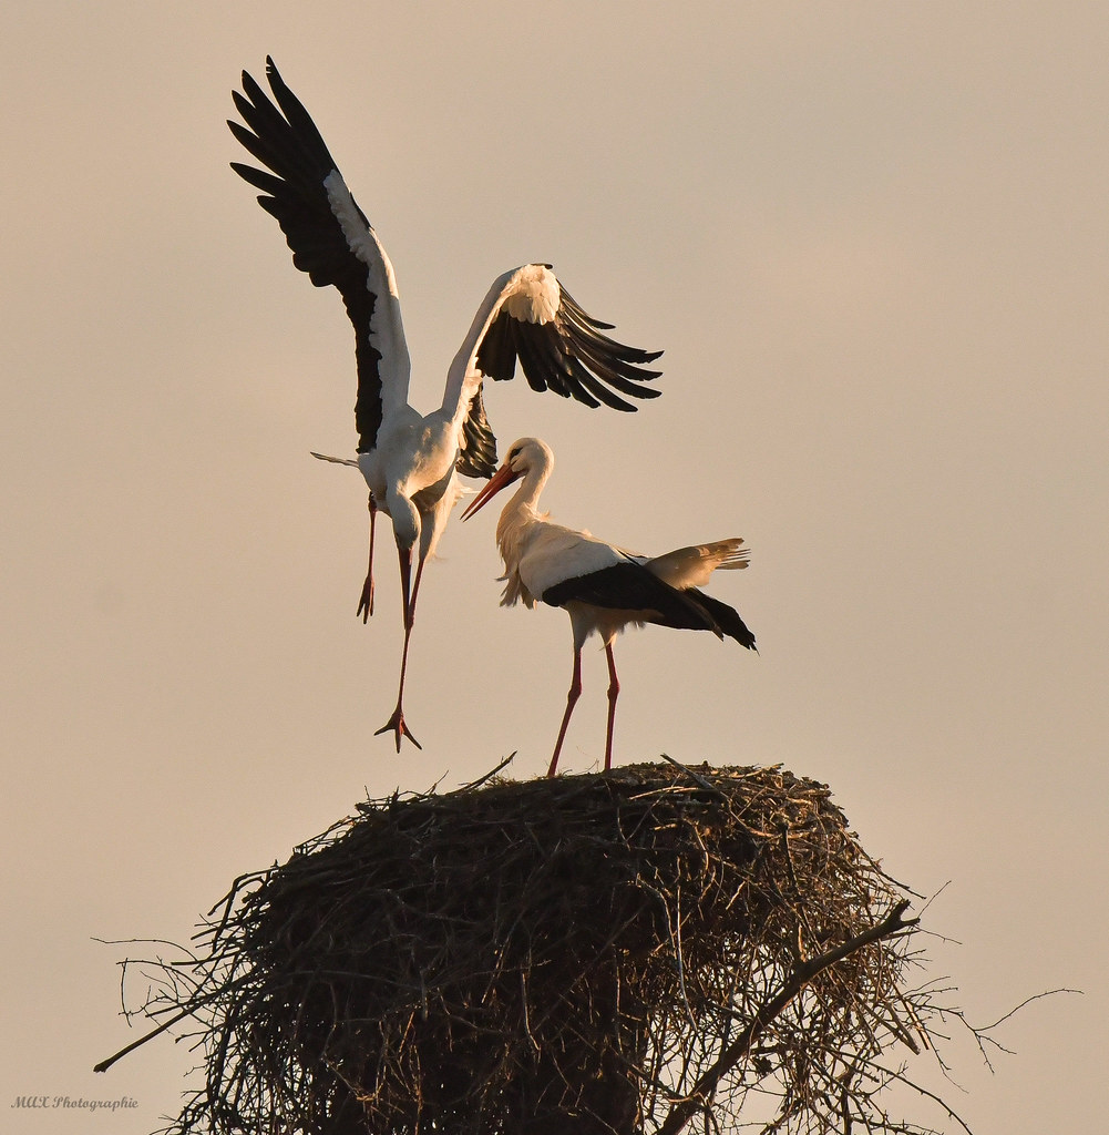
M 554 775 L 574 705 L 582 693 L 582 647 L 594 632 L 604 642 L 609 664 L 609 716 L 604 739 L 604 767 L 612 767 L 612 725 L 620 683 L 616 676 L 612 641 L 629 623 L 658 623 L 686 630 L 727 634 L 748 650 L 755 637 L 739 613 L 699 588 L 718 568 L 746 568 L 747 549 L 734 537 L 711 544 L 677 548 L 662 556 L 641 556 L 589 532 L 564 528 L 539 512 L 539 496 L 551 476 L 554 455 L 545 442 L 525 437 L 516 442 L 492 480 L 463 513 L 473 516 L 501 489 L 523 478 L 497 522 L 497 546 L 505 562 L 501 606 L 542 600 L 564 607 L 574 629 L 574 676 L 566 698 L 548 776 Z

